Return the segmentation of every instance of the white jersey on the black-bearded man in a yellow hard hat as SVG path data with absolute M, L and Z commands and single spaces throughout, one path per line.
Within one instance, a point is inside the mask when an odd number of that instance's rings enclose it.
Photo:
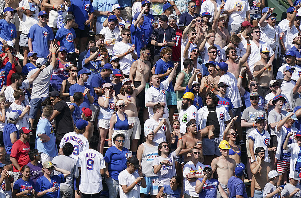
M 194 119 L 197 122 L 197 118 L 198 112 L 197 108 L 194 105 L 190 105 L 190 107 L 188 107 L 186 110 L 181 109 L 179 113 L 181 134 L 186 133 L 186 123 L 189 122 L 191 119 Z

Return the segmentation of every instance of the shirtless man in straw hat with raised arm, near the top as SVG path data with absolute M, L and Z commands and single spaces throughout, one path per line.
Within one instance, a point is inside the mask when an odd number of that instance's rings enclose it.
M 215 30 L 215 41 L 214 44 L 225 47 L 229 44 L 230 34 L 228 29 L 225 28 L 225 23 L 228 18 L 228 15 L 222 14 L 221 10 L 224 8 L 225 4 L 220 5 L 220 9 L 217 9 L 217 14 L 213 20 L 212 29 Z

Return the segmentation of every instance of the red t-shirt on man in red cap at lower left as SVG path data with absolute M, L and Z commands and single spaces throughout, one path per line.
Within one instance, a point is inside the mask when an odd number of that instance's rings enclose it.
M 22 168 L 24 165 L 30 162 L 29 155 L 28 155 L 29 151 L 30 151 L 30 146 L 28 142 L 24 144 L 21 140 L 17 140 L 17 142 L 15 142 L 11 147 L 10 157 L 16 158 L 18 164 Z M 14 165 L 13 168 L 14 168 L 14 172 L 18 171 L 18 169 L 16 169 Z

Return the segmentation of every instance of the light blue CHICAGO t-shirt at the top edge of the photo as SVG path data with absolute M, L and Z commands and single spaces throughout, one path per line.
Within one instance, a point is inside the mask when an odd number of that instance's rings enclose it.
M 94 0 L 92 2 L 93 9 L 100 12 L 112 12 L 112 6 L 115 4 L 118 4 L 117 0 Z M 97 22 L 103 24 L 107 18 L 106 15 L 99 15 L 97 16 Z

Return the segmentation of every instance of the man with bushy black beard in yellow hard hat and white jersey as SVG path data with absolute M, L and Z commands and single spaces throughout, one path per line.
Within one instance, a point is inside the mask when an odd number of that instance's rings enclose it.
M 186 123 L 187 122 L 196 122 L 198 113 L 197 108 L 193 105 L 194 95 L 191 92 L 186 92 L 183 95 L 182 107 L 179 112 L 179 121 L 180 121 L 180 131 L 182 134 L 186 133 Z

